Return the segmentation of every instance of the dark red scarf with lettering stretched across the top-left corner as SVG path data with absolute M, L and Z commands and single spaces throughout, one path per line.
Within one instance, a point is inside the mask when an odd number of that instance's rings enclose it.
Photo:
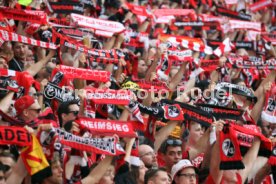
M 47 14 L 43 11 L 19 10 L 7 7 L 0 7 L 2 17 L 19 21 L 27 21 L 37 24 L 47 23 Z M 1 17 L 0 16 L 0 17 Z

